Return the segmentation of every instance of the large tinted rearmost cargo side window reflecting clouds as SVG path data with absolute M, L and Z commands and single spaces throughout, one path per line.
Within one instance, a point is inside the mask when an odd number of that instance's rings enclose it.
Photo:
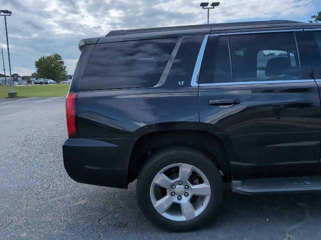
M 154 86 L 177 41 L 163 38 L 96 44 L 81 90 Z

